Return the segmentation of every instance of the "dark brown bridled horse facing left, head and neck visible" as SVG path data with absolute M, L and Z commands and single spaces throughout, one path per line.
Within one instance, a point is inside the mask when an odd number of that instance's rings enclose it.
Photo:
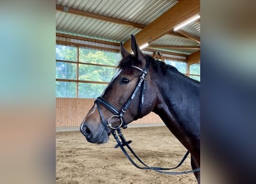
M 81 133 L 90 143 L 107 143 L 110 132 L 154 112 L 190 152 L 192 168 L 200 167 L 200 82 L 144 55 L 133 35 L 131 49 L 120 44 L 119 70 L 85 116 Z M 200 171 L 194 175 L 200 183 Z

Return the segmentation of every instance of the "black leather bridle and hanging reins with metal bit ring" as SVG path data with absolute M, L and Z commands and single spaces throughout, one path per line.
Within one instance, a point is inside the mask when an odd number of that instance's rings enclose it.
M 142 75 L 140 76 L 140 80 L 139 82 L 137 83 L 137 86 L 135 87 L 135 90 L 133 91 L 131 97 L 128 99 L 128 101 L 124 104 L 123 108 L 120 110 L 118 110 L 115 106 L 113 106 L 112 104 L 110 104 L 108 101 L 106 101 L 104 98 L 102 97 L 98 97 L 96 100 L 95 100 L 95 104 L 97 105 L 97 108 L 98 108 L 98 111 L 100 113 L 100 116 L 101 116 L 101 120 L 102 120 L 102 124 L 104 125 L 104 128 L 106 130 L 106 132 L 108 133 L 108 136 L 110 134 L 113 135 L 114 139 L 116 140 L 117 142 L 117 145 L 114 147 L 114 148 L 118 148 L 120 147 L 121 150 L 124 152 L 124 155 L 129 159 L 129 161 L 137 168 L 140 168 L 142 170 L 153 170 L 153 171 L 156 171 L 158 173 L 163 173 L 163 174 L 171 174 L 171 175 L 177 175 L 177 174 L 187 174 L 187 173 L 194 173 L 196 171 L 200 171 L 200 167 L 199 168 L 196 168 L 194 170 L 190 170 L 190 171 L 183 171 L 183 172 L 170 172 L 170 171 L 167 171 L 167 170 L 173 170 L 175 168 L 178 168 L 179 166 L 181 166 L 181 164 L 185 161 L 185 159 L 187 158 L 187 156 L 189 155 L 189 151 L 186 152 L 184 158 L 182 158 L 181 162 L 179 162 L 179 164 L 175 167 L 172 167 L 172 168 L 162 168 L 162 167 L 150 167 L 150 166 L 147 166 L 146 163 L 144 163 L 140 158 L 139 156 L 137 156 L 135 154 L 135 152 L 132 150 L 132 148 L 129 146 L 130 143 L 132 143 L 131 140 L 129 141 L 126 141 L 125 138 L 124 138 L 124 135 L 123 133 L 121 132 L 121 127 L 122 128 L 127 128 L 127 123 L 125 122 L 124 118 L 123 118 L 123 115 L 124 113 L 127 111 L 129 105 L 131 104 L 131 101 L 133 100 L 133 98 L 135 98 L 135 95 L 137 94 L 137 92 L 139 91 L 140 88 L 142 88 L 142 93 L 141 93 L 141 97 L 140 97 L 140 106 L 139 106 L 139 113 L 138 113 L 138 116 L 140 115 L 141 111 L 142 111 L 142 105 L 143 105 L 143 102 L 144 102 L 144 91 L 145 91 L 145 88 L 146 88 L 146 76 L 147 76 L 147 69 L 148 69 L 148 62 L 146 64 L 146 67 L 144 68 L 144 70 L 142 70 L 141 68 L 139 67 L 136 67 L 136 66 L 131 66 L 133 68 L 136 68 L 137 70 L 141 71 L 142 72 Z M 108 119 L 108 122 L 105 121 L 105 118 L 102 114 L 102 111 L 101 111 L 101 108 L 100 108 L 100 105 L 103 105 L 105 106 L 105 108 L 107 108 L 108 110 L 110 110 L 110 112 L 112 112 L 114 115 L 109 117 Z M 113 127 L 113 125 L 110 123 L 110 120 L 112 118 L 120 118 L 120 125 L 118 125 L 117 127 Z M 117 131 L 117 133 L 116 133 Z M 118 136 L 117 136 L 118 135 Z M 119 139 L 120 138 L 120 139 Z M 121 141 L 120 141 L 121 140 Z M 133 154 L 133 156 L 135 156 L 135 158 L 143 164 L 143 166 L 145 167 L 140 167 L 138 166 L 134 161 L 133 159 L 131 158 L 131 156 L 129 156 L 128 152 L 125 150 L 124 147 L 127 147 L 128 150 Z

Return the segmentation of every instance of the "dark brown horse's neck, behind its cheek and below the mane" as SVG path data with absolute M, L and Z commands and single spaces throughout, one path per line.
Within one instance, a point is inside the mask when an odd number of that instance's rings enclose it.
M 175 72 L 157 75 L 158 103 L 153 111 L 190 150 L 192 142 L 200 140 L 200 84 Z

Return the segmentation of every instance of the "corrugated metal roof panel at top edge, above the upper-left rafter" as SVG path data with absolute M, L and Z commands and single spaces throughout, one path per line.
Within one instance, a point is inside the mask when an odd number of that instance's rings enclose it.
M 177 3 L 175 0 L 94 0 L 56 1 L 57 5 L 89 11 L 122 20 L 149 24 Z

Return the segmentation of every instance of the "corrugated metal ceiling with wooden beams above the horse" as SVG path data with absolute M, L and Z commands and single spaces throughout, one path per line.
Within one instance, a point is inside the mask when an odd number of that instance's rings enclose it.
M 200 14 L 198 0 L 56 0 L 56 33 L 123 42 L 131 34 L 145 50 L 189 56 L 200 52 L 200 20 L 174 27 Z

